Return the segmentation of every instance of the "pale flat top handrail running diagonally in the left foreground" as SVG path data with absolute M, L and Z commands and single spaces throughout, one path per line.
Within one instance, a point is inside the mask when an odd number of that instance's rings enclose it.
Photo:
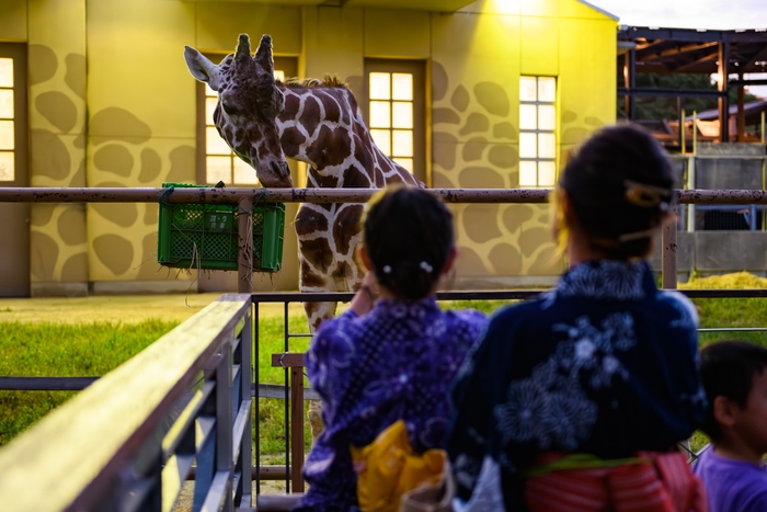
M 0 448 L 2 509 L 105 510 L 100 500 L 131 478 L 128 468 L 159 465 L 162 421 L 250 304 L 220 297 Z

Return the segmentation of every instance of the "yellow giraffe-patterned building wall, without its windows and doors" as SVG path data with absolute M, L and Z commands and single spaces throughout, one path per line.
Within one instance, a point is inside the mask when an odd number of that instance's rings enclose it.
M 28 44 L 33 186 L 195 182 L 195 81 L 183 47 L 232 52 L 244 32 L 254 43 L 271 34 L 275 55 L 298 57 L 299 75 L 335 73 L 362 99 L 365 58 L 425 60 L 430 184 L 516 187 L 519 76 L 558 78 L 561 164 L 614 121 L 615 30 L 575 0 L 480 0 L 451 14 L 181 0 L 0 5 L 0 41 Z M 562 270 L 546 206 L 454 212 L 457 286 Z M 157 217 L 154 204 L 35 205 L 33 294 L 194 289 L 195 272 L 158 272 Z M 287 224 L 284 275 L 257 287 L 297 286 Z

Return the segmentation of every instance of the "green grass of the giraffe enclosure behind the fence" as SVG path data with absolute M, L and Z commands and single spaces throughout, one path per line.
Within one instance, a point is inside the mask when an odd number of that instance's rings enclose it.
M 443 308 L 474 308 L 492 312 L 512 301 L 457 300 L 442 303 Z M 701 327 L 767 327 L 767 299 L 695 299 Z M 0 310 L 2 312 L 2 310 Z M 259 321 L 259 382 L 283 384 L 285 371 L 272 367 L 272 354 L 285 351 L 283 316 L 262 317 Z M 301 314 L 288 319 L 290 333 L 307 333 Z M 160 320 L 140 323 L 50 325 L 2 322 L 0 317 L 0 375 L 99 376 L 108 373 L 171 330 L 176 323 Z M 740 338 L 767 346 L 767 333 L 702 333 L 701 345 L 713 340 Z M 308 338 L 291 338 L 289 352 L 304 352 Z M 305 384 L 308 384 L 305 379 Z M 39 420 L 75 392 L 0 391 L 0 445 Z M 308 408 L 308 403 L 307 403 Z M 262 462 L 279 464 L 284 450 L 285 402 L 262 399 L 259 410 Z M 306 418 L 306 417 L 305 417 Z M 308 422 L 306 442 L 310 434 Z M 694 447 L 705 443 L 696 435 Z

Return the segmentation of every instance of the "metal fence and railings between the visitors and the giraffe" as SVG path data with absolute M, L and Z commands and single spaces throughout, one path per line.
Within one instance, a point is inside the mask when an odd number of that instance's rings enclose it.
M 340 203 L 367 201 L 376 190 L 268 190 L 261 189 L 187 189 L 168 194 L 163 189 L 0 189 L 0 202 L 156 202 L 163 196 L 170 203 L 249 205 L 259 196 L 264 202 Z M 546 203 L 548 190 L 432 190 L 448 203 Z M 677 204 L 765 205 L 765 191 L 676 191 Z M 240 216 L 241 228 L 247 215 Z M 245 224 L 242 224 L 245 223 Z M 247 231 L 245 231 L 247 232 Z M 676 287 L 676 232 L 674 225 L 663 230 L 662 282 L 664 288 Z M 249 237 L 241 237 L 248 243 Z M 252 243 L 252 241 L 251 241 Z M 250 263 L 242 254 L 240 274 Z M 0 451 L 0 503 L 14 503 L 14 510 L 162 510 L 169 511 L 178 489 L 195 474 L 194 511 L 211 509 L 231 511 L 252 503 L 249 482 L 284 478 L 287 490 L 300 490 L 304 462 L 302 355 L 290 353 L 290 340 L 302 333 L 284 332 L 284 353 L 273 362 L 285 366 L 282 390 L 257 383 L 257 364 L 253 374 L 243 369 L 251 355 L 257 357 L 257 330 L 251 346 L 251 322 L 259 322 L 259 305 L 284 303 L 287 326 L 289 303 L 348 300 L 351 294 L 252 294 L 224 296 L 193 319 L 158 340 L 147 351 L 131 359 L 88 387 L 28 433 Z M 540 291 L 449 292 L 443 300 L 525 299 Z M 765 297 L 767 289 L 685 291 L 690 297 Z M 252 316 L 251 316 L 251 301 Z M 251 353 L 252 351 L 252 353 Z M 285 354 L 287 353 L 287 355 Z M 275 359 L 276 357 L 276 359 Z M 293 361 L 290 361 L 293 359 Z M 257 361 L 257 359 L 256 359 Z M 56 378 L 56 377 L 50 377 Z M 288 379 L 296 385 L 289 386 Z M 88 382 L 59 380 L 61 386 L 87 385 Z M 51 380 L 0 380 L 0 388 L 51 388 Z M 14 387 L 15 386 L 15 387 Z M 251 467 L 251 400 L 256 397 L 285 399 L 285 465 L 262 467 L 256 422 L 256 466 Z M 300 418 L 300 420 L 299 420 Z M 290 429 L 293 419 L 294 429 Z M 165 422 L 165 423 L 163 423 Z M 162 425 L 165 425 L 163 430 Z M 207 425 L 207 426 L 206 426 Z M 192 435 L 202 432 L 205 442 Z M 213 446 L 213 447 L 211 447 Z M 196 469 L 192 470 L 196 459 Z M 293 464 L 291 464 L 293 460 Z M 55 464 L 50 464 L 54 462 Z M 67 478 L 61 478 L 67 475 Z M 45 492 L 28 492 L 34 481 Z M 260 488 L 256 483 L 256 493 Z M 298 488 L 298 489 L 297 489 Z M 199 489 L 199 490 L 197 490 Z M 21 500 L 21 501 L 20 501 Z M 20 503 L 16 508 L 15 503 Z M 104 508 L 105 503 L 114 508 Z M 28 507 L 27 507 L 28 504 Z M 119 505 L 119 508 L 118 508 Z M 206 509 L 207 510 L 207 509 Z

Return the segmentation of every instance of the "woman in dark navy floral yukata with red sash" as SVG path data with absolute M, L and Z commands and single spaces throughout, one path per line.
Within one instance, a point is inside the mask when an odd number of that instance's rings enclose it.
M 456 510 L 706 509 L 673 450 L 706 411 L 697 312 L 643 261 L 675 220 L 673 182 L 664 150 L 630 125 L 568 162 L 554 236 L 570 269 L 497 311 L 457 377 Z

